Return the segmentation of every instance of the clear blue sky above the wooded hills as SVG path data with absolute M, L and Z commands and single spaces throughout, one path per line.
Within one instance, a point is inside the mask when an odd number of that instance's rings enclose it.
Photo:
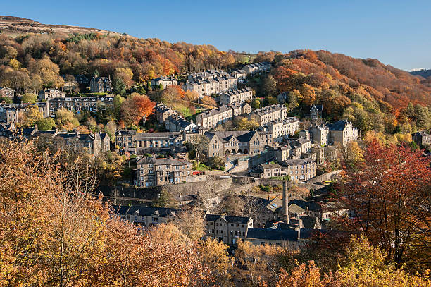
M 4 1 L 0 15 L 220 50 L 327 50 L 431 68 L 430 0 Z

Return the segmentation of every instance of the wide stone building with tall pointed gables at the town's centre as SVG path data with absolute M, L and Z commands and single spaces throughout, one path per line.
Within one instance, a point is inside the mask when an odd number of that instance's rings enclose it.
M 206 132 L 208 157 L 225 157 L 230 154 L 261 154 L 265 142 L 256 131 L 235 130 L 227 132 Z

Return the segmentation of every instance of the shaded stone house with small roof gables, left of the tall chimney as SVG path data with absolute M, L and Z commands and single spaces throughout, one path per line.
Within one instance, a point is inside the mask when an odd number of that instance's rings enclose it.
M 247 237 L 249 228 L 253 228 L 253 219 L 243 216 L 205 215 L 206 236 L 220 240 L 227 245 Z

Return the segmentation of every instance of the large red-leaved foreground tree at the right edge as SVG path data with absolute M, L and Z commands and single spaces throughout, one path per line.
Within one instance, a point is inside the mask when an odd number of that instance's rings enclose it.
M 430 159 L 420 151 L 373 140 L 363 162 L 347 169 L 337 190 L 339 200 L 354 214 L 341 219 L 344 230 L 362 231 L 398 266 L 423 266 L 431 256 L 424 245 L 430 243 L 431 229 L 421 217 L 430 208 L 429 189 L 425 191 L 431 186 L 430 176 Z

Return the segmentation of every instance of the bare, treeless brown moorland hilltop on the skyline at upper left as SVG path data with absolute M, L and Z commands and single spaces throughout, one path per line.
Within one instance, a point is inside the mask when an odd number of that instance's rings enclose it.
M 53 32 L 63 32 L 63 33 L 91 33 L 97 32 L 101 34 L 117 34 L 116 32 L 111 32 L 107 30 L 76 27 L 76 26 L 66 26 L 66 25 L 49 25 L 42 24 L 40 22 L 14 17 L 14 16 L 0 16 L 0 32 L 6 33 L 8 35 L 22 35 L 27 33 L 53 33 Z

